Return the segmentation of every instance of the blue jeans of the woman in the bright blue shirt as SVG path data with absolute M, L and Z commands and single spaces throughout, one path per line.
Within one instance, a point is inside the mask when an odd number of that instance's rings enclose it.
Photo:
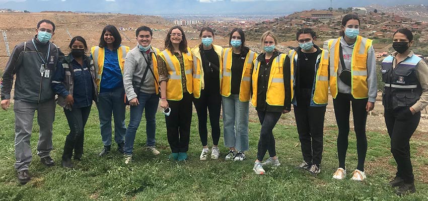
M 123 137 L 126 133 L 124 94 L 123 87 L 118 87 L 113 91 L 102 92 L 98 95 L 97 108 L 104 146 L 111 145 L 112 113 L 114 117 L 114 141 L 117 144 L 123 143 Z

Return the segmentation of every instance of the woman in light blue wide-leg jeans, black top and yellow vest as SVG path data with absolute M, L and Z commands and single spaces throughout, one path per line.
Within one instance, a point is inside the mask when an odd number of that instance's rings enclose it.
M 248 113 L 251 71 L 257 53 L 245 46 L 242 29 L 230 33 L 229 46 L 223 51 L 222 105 L 225 146 L 229 147 L 226 160 L 242 161 L 248 144 Z M 238 152 L 237 152 L 238 151 Z

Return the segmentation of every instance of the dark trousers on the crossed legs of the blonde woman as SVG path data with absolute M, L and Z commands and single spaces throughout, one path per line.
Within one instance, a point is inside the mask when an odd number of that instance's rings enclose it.
M 257 160 L 259 161 L 263 161 L 266 151 L 269 151 L 270 157 L 276 156 L 275 138 L 273 138 L 272 130 L 281 117 L 281 114 L 280 112 L 257 111 L 261 124 L 260 139 L 257 146 Z

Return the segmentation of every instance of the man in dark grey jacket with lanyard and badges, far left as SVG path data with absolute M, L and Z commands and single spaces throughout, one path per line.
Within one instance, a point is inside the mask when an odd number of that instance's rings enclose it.
M 37 110 L 40 127 L 37 155 L 40 162 L 48 167 L 54 162 L 50 157 L 52 150 L 52 124 L 55 117 L 55 98 L 51 89 L 51 79 L 63 56 L 50 42 L 55 24 L 42 20 L 37 24 L 37 35 L 15 46 L 3 73 L 2 109 L 8 110 L 11 99 L 13 76 L 16 74 L 14 112 L 15 112 L 15 169 L 18 180 L 25 184 L 30 180 L 28 172 L 32 160 L 30 138 L 33 118 Z

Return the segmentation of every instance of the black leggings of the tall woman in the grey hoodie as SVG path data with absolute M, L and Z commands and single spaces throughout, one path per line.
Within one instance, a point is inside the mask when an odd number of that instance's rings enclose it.
M 356 135 L 356 151 L 358 153 L 357 169 L 364 171 L 364 162 L 367 154 L 367 101 L 369 98 L 355 99 L 351 94 L 338 93 L 333 98 L 334 114 L 339 128 L 337 136 L 337 156 L 339 158 L 339 167 L 345 169 L 345 157 L 348 149 L 349 135 L 349 114 L 352 105 L 353 126 Z

